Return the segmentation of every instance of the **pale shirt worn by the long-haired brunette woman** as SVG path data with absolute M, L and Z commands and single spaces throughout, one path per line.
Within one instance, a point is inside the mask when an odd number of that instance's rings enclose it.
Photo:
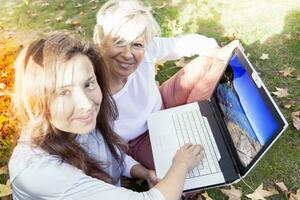
M 102 135 L 93 131 L 76 140 L 93 158 L 113 163 L 105 171 L 119 185 L 124 170 L 117 168 Z M 9 161 L 9 172 L 14 200 L 164 199 L 155 188 L 138 193 L 92 178 L 57 156 L 21 142 Z

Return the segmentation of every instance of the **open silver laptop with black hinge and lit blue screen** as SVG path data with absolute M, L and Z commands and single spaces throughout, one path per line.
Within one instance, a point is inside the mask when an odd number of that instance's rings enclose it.
M 148 119 L 158 177 L 176 151 L 201 144 L 204 157 L 185 180 L 184 191 L 238 182 L 263 157 L 288 124 L 242 47 L 237 47 L 209 100 L 152 113 Z

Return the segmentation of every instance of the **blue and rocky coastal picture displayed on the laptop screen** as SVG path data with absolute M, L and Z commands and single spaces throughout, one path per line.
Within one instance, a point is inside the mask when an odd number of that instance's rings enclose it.
M 278 125 L 237 55 L 231 58 L 215 96 L 240 161 L 246 167 Z

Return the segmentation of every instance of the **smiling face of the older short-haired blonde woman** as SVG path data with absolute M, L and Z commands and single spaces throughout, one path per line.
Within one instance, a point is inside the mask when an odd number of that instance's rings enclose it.
M 144 36 L 124 45 L 123 41 L 114 44 L 114 39 L 106 41 L 103 46 L 104 59 L 114 78 L 127 79 L 141 63 L 145 53 Z

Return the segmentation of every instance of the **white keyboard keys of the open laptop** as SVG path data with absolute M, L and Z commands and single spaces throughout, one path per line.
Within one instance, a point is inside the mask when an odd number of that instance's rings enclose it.
M 221 156 L 208 120 L 206 117 L 202 117 L 200 110 L 177 113 L 173 115 L 173 123 L 180 146 L 192 143 L 201 144 L 204 148 L 203 159 L 187 174 L 186 178 L 220 172 L 218 158 Z

